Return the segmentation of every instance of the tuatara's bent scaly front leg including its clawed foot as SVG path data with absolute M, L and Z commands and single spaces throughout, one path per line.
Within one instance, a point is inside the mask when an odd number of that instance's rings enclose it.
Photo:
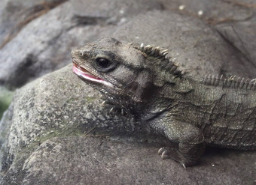
M 158 154 L 162 156 L 163 160 L 172 158 L 185 168 L 194 165 L 203 154 L 204 136 L 200 129 L 193 124 L 179 121 L 175 116 L 168 115 L 161 115 L 160 118 L 150 121 L 150 124 L 171 142 L 178 144 L 178 148 L 160 148 Z

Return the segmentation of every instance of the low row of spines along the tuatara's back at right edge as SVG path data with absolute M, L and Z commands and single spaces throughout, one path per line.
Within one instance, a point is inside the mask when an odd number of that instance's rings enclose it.
M 236 76 L 230 76 L 230 78 L 224 79 L 223 75 L 221 75 L 221 77 L 218 77 L 218 75 L 206 75 L 205 78 L 203 79 L 203 82 L 206 85 L 221 85 L 223 88 L 256 90 L 256 79 L 245 80 L 245 78 L 237 78 Z

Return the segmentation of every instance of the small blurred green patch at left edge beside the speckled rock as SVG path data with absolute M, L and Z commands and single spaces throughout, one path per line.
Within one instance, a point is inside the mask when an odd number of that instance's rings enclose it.
M 3 113 L 11 103 L 14 92 L 8 91 L 6 88 L 0 86 L 0 119 Z

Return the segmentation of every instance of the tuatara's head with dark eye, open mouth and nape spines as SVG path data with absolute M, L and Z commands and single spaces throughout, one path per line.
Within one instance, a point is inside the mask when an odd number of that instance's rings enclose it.
M 103 38 L 72 49 L 73 71 L 112 103 L 131 106 L 150 98 L 166 77 L 172 79 L 167 70 L 180 74 L 167 53 L 159 47 Z

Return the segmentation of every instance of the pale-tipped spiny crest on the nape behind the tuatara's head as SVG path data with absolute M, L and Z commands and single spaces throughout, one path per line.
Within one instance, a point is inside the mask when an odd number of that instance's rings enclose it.
M 179 69 L 179 64 L 176 62 L 176 58 L 172 59 L 167 56 L 169 53 L 168 49 L 163 49 L 160 46 L 144 46 L 144 43 L 140 46 L 134 46 L 134 48 L 144 52 L 146 55 L 156 58 L 157 62 L 154 61 L 154 64 L 157 64 L 161 70 L 166 70 L 175 76 L 181 76 L 183 74 Z

